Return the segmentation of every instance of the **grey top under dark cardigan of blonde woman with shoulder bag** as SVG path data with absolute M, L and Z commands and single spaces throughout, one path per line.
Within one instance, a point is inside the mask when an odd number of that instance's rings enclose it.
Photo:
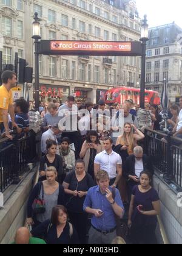
M 41 196 L 42 196 L 42 189 L 43 187 L 41 187 L 41 192 L 40 192 Z M 52 208 L 58 204 L 58 196 L 59 196 L 59 187 L 53 194 L 45 194 L 44 192 L 45 213 L 36 215 L 36 219 L 39 222 L 42 223 L 44 221 L 47 221 L 47 219 L 51 218 Z

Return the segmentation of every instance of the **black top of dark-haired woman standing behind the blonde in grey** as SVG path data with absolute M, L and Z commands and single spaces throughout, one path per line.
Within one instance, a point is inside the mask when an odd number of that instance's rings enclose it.
M 44 157 L 41 158 L 40 160 L 40 167 L 39 171 L 45 171 L 47 167 L 49 166 L 54 166 L 58 172 L 58 175 L 63 174 L 63 168 L 62 168 L 62 157 L 61 155 L 55 155 L 55 160 L 53 163 L 50 163 L 49 160 L 47 159 L 47 156 L 44 155 Z

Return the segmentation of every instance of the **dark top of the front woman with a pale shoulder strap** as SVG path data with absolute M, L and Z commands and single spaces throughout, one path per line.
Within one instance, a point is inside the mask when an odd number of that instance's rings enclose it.
M 44 237 L 47 244 L 79 244 L 78 234 L 74 227 L 73 235 L 70 235 L 70 226 L 68 222 L 59 238 L 56 226 L 51 225 L 49 220 L 42 222 L 42 224 L 33 229 L 31 233 L 38 238 Z

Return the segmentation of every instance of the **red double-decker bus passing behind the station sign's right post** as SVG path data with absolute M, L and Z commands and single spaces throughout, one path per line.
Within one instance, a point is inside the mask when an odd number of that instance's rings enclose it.
M 133 102 L 140 105 L 140 89 L 133 87 L 112 88 L 104 94 L 106 104 L 123 104 L 126 99 L 133 99 Z M 157 91 L 145 90 L 145 102 L 160 105 L 161 100 Z

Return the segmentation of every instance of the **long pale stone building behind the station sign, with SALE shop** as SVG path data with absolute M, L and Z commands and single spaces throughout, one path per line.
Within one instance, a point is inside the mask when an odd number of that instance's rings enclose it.
M 139 41 L 141 21 L 135 1 L 0 0 L 3 63 L 15 52 L 34 66 L 33 15 L 44 40 Z M 140 57 L 39 56 L 40 96 L 64 101 L 71 94 L 98 101 L 109 88 L 140 85 Z

